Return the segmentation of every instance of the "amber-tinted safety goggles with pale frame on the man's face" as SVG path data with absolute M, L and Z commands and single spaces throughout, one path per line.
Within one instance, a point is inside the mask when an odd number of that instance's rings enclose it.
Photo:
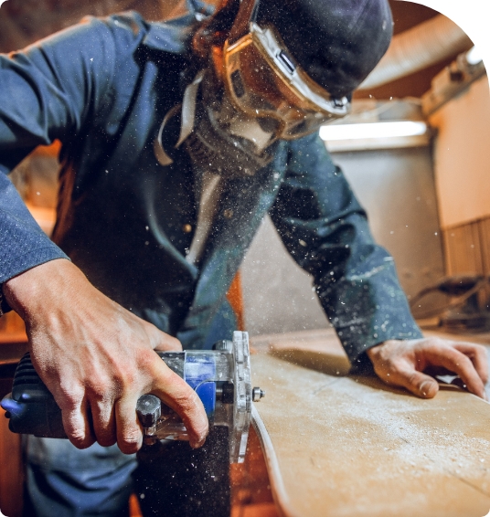
M 318 130 L 350 110 L 304 72 L 273 27 L 255 22 L 259 1 L 244 2 L 223 48 L 225 84 L 241 111 L 273 121 L 279 138 L 292 140 Z

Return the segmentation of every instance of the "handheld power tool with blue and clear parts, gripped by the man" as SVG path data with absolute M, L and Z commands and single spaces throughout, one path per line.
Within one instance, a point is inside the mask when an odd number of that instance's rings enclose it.
M 229 427 L 229 462 L 242 463 L 249 436 L 251 403 L 264 396 L 250 384 L 248 332 L 233 332 L 232 340 L 215 343 L 213 350 L 157 352 L 165 364 L 190 385 L 201 399 L 210 426 Z M 16 367 L 12 393 L 0 403 L 14 433 L 42 438 L 67 438 L 61 410 L 37 375 L 29 353 Z M 154 395 L 138 400 L 136 413 L 144 443 L 188 439 L 186 427 L 170 407 Z

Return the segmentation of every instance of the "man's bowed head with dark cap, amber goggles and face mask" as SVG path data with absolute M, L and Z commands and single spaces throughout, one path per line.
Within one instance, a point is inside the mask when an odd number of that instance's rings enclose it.
M 388 0 L 227 0 L 194 37 L 214 66 L 186 140 L 191 158 L 252 175 L 272 160 L 273 142 L 346 115 L 391 28 Z M 182 111 L 193 111 L 186 96 Z

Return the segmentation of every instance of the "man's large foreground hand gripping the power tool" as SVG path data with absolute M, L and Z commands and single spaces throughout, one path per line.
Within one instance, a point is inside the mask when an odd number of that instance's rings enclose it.
M 116 443 L 131 454 L 142 445 L 140 396 L 158 396 L 182 418 L 190 445 L 208 434 L 204 407 L 186 381 L 154 350 L 181 350 L 159 331 L 95 289 L 60 258 L 8 280 L 6 301 L 26 322 L 32 362 L 61 408 L 71 443 Z

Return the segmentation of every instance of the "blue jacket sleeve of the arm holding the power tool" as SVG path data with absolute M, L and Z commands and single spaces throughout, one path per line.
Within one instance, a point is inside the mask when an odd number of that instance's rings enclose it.
M 0 55 L 0 285 L 65 254 L 30 216 L 7 177 L 39 144 L 75 138 L 109 95 L 115 48 L 101 20 Z

